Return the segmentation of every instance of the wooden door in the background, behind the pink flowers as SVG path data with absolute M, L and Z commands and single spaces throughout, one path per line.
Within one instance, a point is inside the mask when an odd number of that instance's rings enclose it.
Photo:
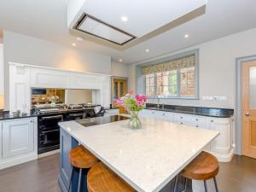
M 113 79 L 113 86 L 112 86 L 112 96 L 113 101 L 118 99 L 121 96 L 125 96 L 127 94 L 127 80 L 126 79 Z M 113 103 L 113 107 L 115 104 Z M 124 109 L 120 109 L 119 113 L 125 113 Z

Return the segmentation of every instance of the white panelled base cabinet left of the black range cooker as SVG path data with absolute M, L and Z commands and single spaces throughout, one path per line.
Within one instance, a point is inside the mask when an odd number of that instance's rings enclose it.
M 37 118 L 0 121 L 0 169 L 38 158 Z

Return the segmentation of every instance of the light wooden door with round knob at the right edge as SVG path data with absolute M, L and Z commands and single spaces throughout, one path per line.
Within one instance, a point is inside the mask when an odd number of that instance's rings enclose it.
M 256 159 L 256 60 L 242 63 L 242 153 Z

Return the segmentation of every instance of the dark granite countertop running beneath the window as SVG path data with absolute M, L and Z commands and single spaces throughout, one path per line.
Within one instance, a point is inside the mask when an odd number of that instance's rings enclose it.
M 154 103 L 147 103 L 146 108 L 151 110 L 166 111 L 172 113 L 188 113 L 217 118 L 230 118 L 234 114 L 234 109 L 230 108 L 203 108 L 177 105 L 164 105 L 164 108 L 157 108 L 157 104 Z

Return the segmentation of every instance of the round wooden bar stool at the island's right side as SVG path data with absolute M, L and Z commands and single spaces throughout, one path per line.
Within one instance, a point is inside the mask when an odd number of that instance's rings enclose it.
M 205 191 L 207 192 L 207 180 L 213 178 L 216 192 L 218 185 L 216 175 L 218 174 L 218 160 L 212 154 L 202 151 L 195 160 L 186 166 L 182 171 L 182 176 L 186 178 L 185 191 L 187 187 L 187 179 L 204 181 Z

